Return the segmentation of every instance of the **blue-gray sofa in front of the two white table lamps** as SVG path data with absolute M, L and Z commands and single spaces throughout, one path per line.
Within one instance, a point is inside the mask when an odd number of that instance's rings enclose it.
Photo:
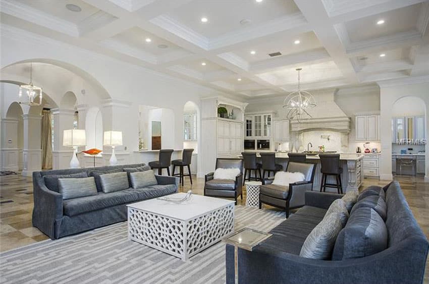
M 55 171 L 33 172 L 33 226 L 49 236 L 59 239 L 68 235 L 92 230 L 101 226 L 127 220 L 126 204 L 164 196 L 178 191 L 179 179 L 167 176 L 155 176 L 158 185 L 148 188 L 103 193 L 97 195 L 63 200 L 62 194 L 50 190 L 45 185 L 46 176 L 70 175 L 93 171 L 122 171 L 122 168 L 134 168 L 144 164 L 128 164 L 93 168 L 60 169 Z M 53 177 L 53 176 L 52 176 Z M 97 183 L 97 182 L 96 182 Z

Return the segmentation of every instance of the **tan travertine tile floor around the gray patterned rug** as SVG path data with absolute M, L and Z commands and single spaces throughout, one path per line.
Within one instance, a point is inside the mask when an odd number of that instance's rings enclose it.
M 189 189 L 195 194 L 203 194 L 204 179 L 195 176 L 191 186 L 189 178 L 185 178 L 185 186 L 180 191 Z M 396 176 L 407 198 L 412 212 L 421 226 L 424 234 L 429 238 L 429 183 L 424 183 L 422 176 Z M 369 185 L 386 185 L 386 181 L 378 179 L 364 179 L 361 189 Z M 243 200 L 245 204 L 245 190 Z M 0 177 L 0 252 L 28 245 L 48 239 L 43 233 L 31 225 L 33 210 L 33 185 L 31 178 L 21 175 Z M 426 262 L 425 282 L 429 283 L 429 262 Z

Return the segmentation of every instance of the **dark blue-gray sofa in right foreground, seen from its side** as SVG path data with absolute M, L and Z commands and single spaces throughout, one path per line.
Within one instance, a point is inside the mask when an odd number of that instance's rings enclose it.
M 306 192 L 305 206 L 253 251 L 238 250 L 239 283 L 422 283 L 429 244 L 397 182 L 386 190 L 388 248 L 339 261 L 299 256 L 312 229 L 342 195 Z M 353 213 L 352 213 L 353 214 Z M 227 283 L 234 283 L 234 247 L 226 246 Z

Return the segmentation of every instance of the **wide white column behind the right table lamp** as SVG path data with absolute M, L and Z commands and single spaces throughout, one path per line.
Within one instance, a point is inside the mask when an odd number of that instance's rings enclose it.
M 118 164 L 134 162 L 130 152 L 138 150 L 138 106 L 130 102 L 107 99 L 103 100 L 101 114 L 103 131 L 122 131 L 122 146 L 115 148 Z M 103 146 L 103 159 L 106 165 L 112 155 L 112 148 Z

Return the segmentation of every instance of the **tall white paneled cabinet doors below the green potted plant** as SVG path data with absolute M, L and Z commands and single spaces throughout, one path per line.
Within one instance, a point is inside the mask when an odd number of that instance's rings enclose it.
M 238 155 L 243 150 L 243 124 L 218 119 L 218 156 Z

